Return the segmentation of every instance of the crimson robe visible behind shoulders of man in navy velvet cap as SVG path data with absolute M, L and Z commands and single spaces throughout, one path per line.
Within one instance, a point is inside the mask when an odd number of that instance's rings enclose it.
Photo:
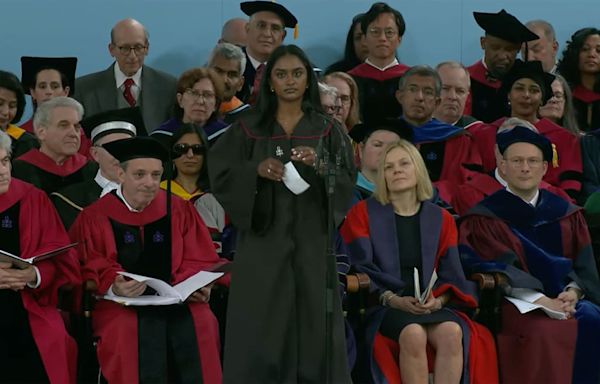
M 502 184 L 496 180 L 496 178 L 493 176 L 493 172 L 489 174 L 473 171 L 469 173 L 469 176 L 467 176 L 467 182 L 459 185 L 456 188 L 450 205 L 452 205 L 456 213 L 462 216 L 485 197 L 501 190 L 502 188 Z M 540 183 L 540 189 L 547 189 L 548 191 L 562 197 L 567 201 L 572 201 L 571 197 L 569 197 L 565 191 L 548 184 L 545 181 Z

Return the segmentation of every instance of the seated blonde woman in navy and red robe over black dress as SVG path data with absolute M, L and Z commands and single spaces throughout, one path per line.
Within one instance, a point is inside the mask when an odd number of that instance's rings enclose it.
M 457 310 L 476 307 L 474 286 L 460 264 L 454 219 L 428 201 L 432 193 L 419 151 L 400 140 L 381 157 L 373 197 L 356 204 L 341 228 L 352 266 L 369 275 L 380 299 L 367 317 L 371 374 L 376 383 L 427 383 L 429 345 L 436 355 L 434 383 L 469 382 L 479 374 L 496 382 L 491 335 Z M 415 298 L 415 268 L 422 291 L 433 272 L 438 275 L 423 303 Z M 469 362 L 475 355 L 488 356 L 478 360 L 480 372 Z

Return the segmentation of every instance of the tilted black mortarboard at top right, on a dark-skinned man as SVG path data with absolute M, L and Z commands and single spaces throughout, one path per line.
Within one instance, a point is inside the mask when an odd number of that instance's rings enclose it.
M 504 9 L 498 13 L 473 12 L 473 17 L 485 33 L 511 43 L 521 44 L 540 38 Z

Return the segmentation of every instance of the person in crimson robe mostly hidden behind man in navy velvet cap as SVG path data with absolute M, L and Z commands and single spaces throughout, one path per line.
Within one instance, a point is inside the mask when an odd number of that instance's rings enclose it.
M 500 128 L 496 131 L 496 137 L 503 132 L 508 132 L 515 127 L 525 127 L 536 134 L 539 134 L 536 127 L 528 121 L 519 119 L 518 117 L 511 117 L 502 123 Z M 464 215 L 469 209 L 477 205 L 485 197 L 499 191 L 502 188 L 506 188 L 505 175 L 502 169 L 498 166 L 503 160 L 502 154 L 498 149 L 498 145 L 494 146 L 494 154 L 496 155 L 496 169 L 490 173 L 482 172 L 481 170 L 471 170 L 467 181 L 458 186 L 456 193 L 454 194 L 454 200 L 451 202 L 452 207 L 459 215 Z M 571 201 L 569 195 L 560 188 L 557 188 L 545 181 L 540 182 L 540 188 L 546 189 L 555 195 L 562 197 L 567 201 Z

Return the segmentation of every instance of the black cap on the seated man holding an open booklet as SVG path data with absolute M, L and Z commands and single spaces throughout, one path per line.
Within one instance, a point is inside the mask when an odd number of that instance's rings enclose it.
M 102 147 L 120 163 L 133 159 L 158 159 L 162 162 L 169 159 L 167 149 L 151 137 L 132 137 L 111 141 Z

